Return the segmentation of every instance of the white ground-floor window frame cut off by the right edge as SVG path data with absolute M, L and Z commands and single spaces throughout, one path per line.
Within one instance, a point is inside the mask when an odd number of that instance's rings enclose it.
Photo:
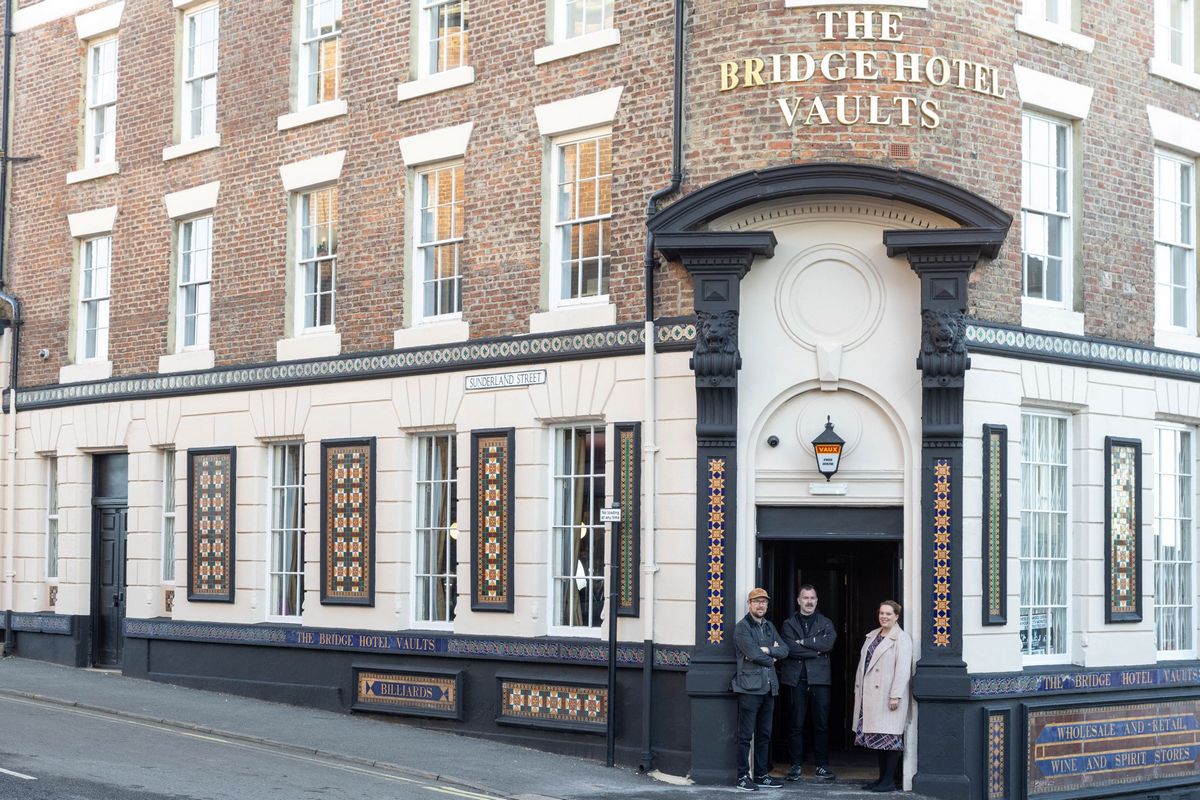
M 1186 476 L 1181 473 L 1175 471 L 1178 467 L 1177 464 L 1168 464 L 1165 459 L 1163 437 L 1187 437 L 1189 439 L 1189 458 L 1187 461 L 1187 468 L 1190 470 Z M 1180 658 L 1194 658 L 1196 655 L 1196 527 L 1195 527 L 1195 501 L 1196 501 L 1196 435 L 1193 428 L 1181 426 L 1181 425 L 1165 425 L 1159 423 L 1154 429 L 1154 531 L 1153 531 L 1153 558 L 1154 558 L 1154 572 L 1153 572 L 1153 591 L 1154 591 L 1154 648 L 1158 654 L 1159 661 L 1174 661 Z M 1168 469 L 1170 468 L 1170 471 Z M 1166 501 L 1169 499 L 1169 493 L 1166 491 L 1168 480 L 1178 480 L 1187 477 L 1186 487 L 1177 487 L 1175 492 L 1170 494 L 1176 498 L 1176 504 L 1174 509 L 1166 509 Z M 1178 500 L 1181 499 L 1180 488 L 1183 489 L 1188 500 L 1188 509 L 1181 510 Z M 1188 516 L 1183 515 L 1183 511 L 1188 512 Z M 1175 559 L 1169 561 L 1176 566 L 1181 567 L 1187 573 L 1190 579 L 1189 591 L 1186 595 L 1187 603 L 1171 603 L 1170 607 L 1174 609 L 1187 608 L 1190 619 L 1186 622 L 1187 634 L 1190 639 L 1190 646 L 1181 648 L 1176 650 L 1163 650 L 1160 649 L 1159 632 L 1162 627 L 1162 610 L 1164 603 L 1160 602 L 1159 597 L 1159 542 L 1160 535 L 1164 530 L 1164 521 L 1170 521 L 1170 524 L 1180 524 L 1187 521 L 1187 535 L 1190 536 L 1190 558 L 1188 559 Z M 1181 525 L 1182 530 L 1182 525 Z M 1181 628 L 1181 631 L 1184 628 Z

